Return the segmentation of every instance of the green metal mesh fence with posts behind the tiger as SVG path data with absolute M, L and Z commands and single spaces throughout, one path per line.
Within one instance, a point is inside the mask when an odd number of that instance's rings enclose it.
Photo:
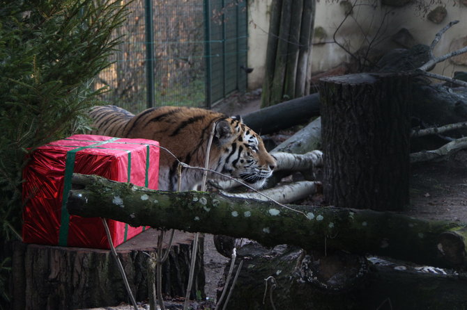
M 246 0 L 136 0 L 115 37 L 112 65 L 95 80 L 102 101 L 210 108 L 247 85 Z

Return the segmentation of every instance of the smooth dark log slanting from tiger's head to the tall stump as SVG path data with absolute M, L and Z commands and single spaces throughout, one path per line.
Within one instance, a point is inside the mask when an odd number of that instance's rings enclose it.
M 242 118 L 248 127 L 264 135 L 309 122 L 311 117 L 319 116 L 319 109 L 319 95 L 313 94 L 262 108 Z

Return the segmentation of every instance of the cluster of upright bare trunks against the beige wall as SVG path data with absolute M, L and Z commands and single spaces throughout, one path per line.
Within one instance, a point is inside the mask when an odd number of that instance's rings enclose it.
M 272 3 L 261 107 L 307 94 L 313 0 Z

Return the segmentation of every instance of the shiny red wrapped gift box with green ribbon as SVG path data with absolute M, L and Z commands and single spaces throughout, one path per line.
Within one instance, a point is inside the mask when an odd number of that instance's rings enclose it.
M 68 214 L 73 172 L 158 189 L 159 143 L 75 135 L 35 149 L 23 172 L 23 242 L 109 249 L 100 218 Z M 115 246 L 144 227 L 107 220 Z

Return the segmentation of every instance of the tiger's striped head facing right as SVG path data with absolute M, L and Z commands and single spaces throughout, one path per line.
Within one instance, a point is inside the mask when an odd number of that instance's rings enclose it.
M 262 188 L 277 165 L 261 137 L 243 124 L 239 116 L 217 122 L 213 143 L 222 149 L 218 160 L 222 167 L 216 170 L 241 179 L 253 188 Z

